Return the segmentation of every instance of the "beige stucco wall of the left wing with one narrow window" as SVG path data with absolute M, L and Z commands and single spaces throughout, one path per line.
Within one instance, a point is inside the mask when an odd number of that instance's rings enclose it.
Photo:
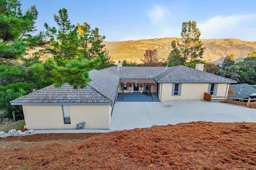
M 110 128 L 110 105 L 69 105 L 71 124 L 64 124 L 61 105 L 23 105 L 28 129 L 76 128 L 79 122 L 86 122 L 85 128 Z

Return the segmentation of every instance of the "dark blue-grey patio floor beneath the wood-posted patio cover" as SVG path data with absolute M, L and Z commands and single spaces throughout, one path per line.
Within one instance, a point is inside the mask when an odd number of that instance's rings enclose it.
M 154 99 L 152 100 L 152 93 L 151 95 L 145 95 L 143 93 L 133 92 L 133 93 L 124 93 L 124 100 L 122 100 L 122 93 L 118 93 L 116 101 L 160 102 L 160 99 L 158 98 L 157 93 L 154 93 Z

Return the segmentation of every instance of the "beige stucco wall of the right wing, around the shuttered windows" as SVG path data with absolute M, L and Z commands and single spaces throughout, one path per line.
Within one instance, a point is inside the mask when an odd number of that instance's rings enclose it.
M 209 83 L 182 83 L 181 95 L 172 96 L 172 83 L 160 83 L 158 97 L 161 100 L 202 100 L 204 92 L 208 92 L 208 86 Z M 225 96 L 226 88 L 227 83 L 218 83 L 216 96 Z

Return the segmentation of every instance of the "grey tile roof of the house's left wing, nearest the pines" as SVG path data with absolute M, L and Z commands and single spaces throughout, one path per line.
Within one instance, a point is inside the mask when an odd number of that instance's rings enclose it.
M 114 103 L 116 99 L 119 77 L 110 73 L 92 70 L 89 71 L 90 81 L 84 89 L 74 89 L 72 85 L 65 83 L 62 87 L 50 85 L 34 93 L 22 96 L 10 101 L 13 105 L 24 104 L 92 104 Z M 110 85 L 111 84 L 111 85 Z

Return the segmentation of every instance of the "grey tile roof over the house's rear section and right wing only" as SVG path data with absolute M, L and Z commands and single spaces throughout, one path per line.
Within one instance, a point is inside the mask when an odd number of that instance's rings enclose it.
M 232 79 L 177 65 L 174 67 L 109 67 L 102 71 L 120 78 L 149 79 L 158 83 L 236 83 Z

